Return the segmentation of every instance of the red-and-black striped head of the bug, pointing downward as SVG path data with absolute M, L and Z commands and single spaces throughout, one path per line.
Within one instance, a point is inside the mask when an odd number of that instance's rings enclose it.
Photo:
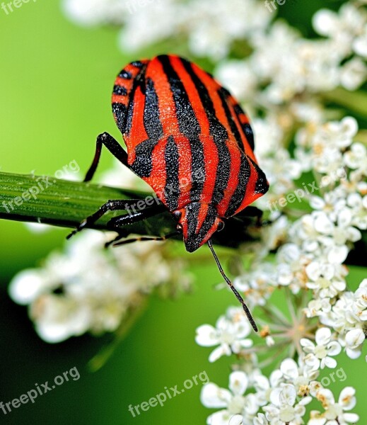
M 186 251 L 196 251 L 208 242 L 211 236 L 224 227 L 214 205 L 193 202 L 180 210 L 173 211 L 177 229 L 182 231 Z

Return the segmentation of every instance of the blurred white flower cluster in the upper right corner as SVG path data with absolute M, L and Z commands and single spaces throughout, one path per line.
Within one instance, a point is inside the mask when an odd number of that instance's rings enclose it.
M 239 98 L 267 107 L 305 101 L 337 86 L 358 89 L 367 77 L 366 22 L 365 8 L 351 2 L 339 13 L 322 9 L 315 14 L 313 26 L 325 38 L 301 38 L 294 28 L 276 21 L 247 38 L 252 55 L 226 60 L 216 74 Z

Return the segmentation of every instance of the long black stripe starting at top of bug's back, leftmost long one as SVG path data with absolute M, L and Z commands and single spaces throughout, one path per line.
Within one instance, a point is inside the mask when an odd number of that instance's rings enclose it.
M 190 199 L 192 202 L 200 200 L 202 191 L 204 189 L 205 180 L 205 161 L 204 161 L 204 147 L 199 140 L 201 132 L 199 121 L 194 113 L 192 104 L 190 103 L 189 96 L 185 86 L 170 64 L 167 55 L 158 56 L 157 59 L 161 62 L 163 70 L 168 78 L 170 89 L 175 101 L 177 122 L 182 135 L 187 137 L 191 147 L 191 167 L 192 188 L 190 190 Z M 187 152 L 189 154 L 189 152 Z

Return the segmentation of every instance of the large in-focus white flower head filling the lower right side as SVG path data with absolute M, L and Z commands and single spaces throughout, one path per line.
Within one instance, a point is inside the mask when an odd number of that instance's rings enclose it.
M 298 143 L 298 147 L 303 149 L 304 156 L 310 157 L 308 171 L 320 179 L 327 176 L 327 184 L 319 196 L 305 197 L 313 208 L 312 212 L 293 222 L 289 222 L 290 213 L 289 217 L 282 215 L 270 228 L 264 229 L 267 243 L 262 244 L 259 256 L 264 258 L 270 249 L 278 248 L 275 263 L 255 261 L 249 272 L 234 280 L 236 288 L 245 294 L 249 305 L 260 306 L 269 318 L 269 322 L 260 320 L 263 324 L 260 336 L 265 344 L 251 346 L 249 334 L 239 331 L 229 317 L 221 317 L 216 329 L 209 325 L 198 329 L 198 344 L 219 345 L 211 354 L 210 361 L 215 361 L 219 355 L 232 353 L 239 360 L 247 360 L 247 369 L 249 364 L 254 368 L 266 364 L 259 363 L 256 356 L 261 356 L 263 349 L 289 346 L 289 356 L 297 353 L 300 359 L 301 390 L 298 374 L 293 371 L 288 375 L 288 380 L 274 381 L 274 377 L 280 376 L 279 370 L 276 370 L 269 378 L 270 382 L 275 383 L 267 387 L 267 397 L 263 398 L 258 393 L 256 383 L 257 380 L 264 380 L 262 375 L 252 378 L 252 371 L 247 370 L 247 374 L 234 372 L 230 378 L 232 392 L 221 390 L 211 383 L 204 388 L 202 402 L 206 407 L 226 407 L 209 416 L 208 424 L 228 424 L 232 417 L 231 425 L 303 424 L 305 404 L 312 397 L 322 403 L 325 412 L 311 412 L 308 424 L 344 424 L 358 419 L 356 414 L 346 412 L 354 407 L 354 389 L 346 387 L 339 402 L 335 403 L 332 392 L 323 389 L 320 382 L 310 384 L 319 370 L 337 367 L 335 357 L 343 348 L 349 358 L 359 357 L 365 340 L 367 280 L 363 280 L 355 292 L 346 290 L 348 270 L 344 265 L 354 242 L 361 239 L 361 231 L 366 230 L 367 220 L 366 150 L 361 149 L 358 166 L 349 166 L 345 161 L 352 154 L 354 145 L 361 145 L 353 142 L 357 130 L 356 120 L 350 117 L 340 122 L 320 123 L 314 126 L 311 134 L 308 134 L 307 128 L 299 130 L 302 143 Z M 322 159 L 334 160 L 330 152 L 340 154 L 338 166 L 343 169 L 342 174 L 332 174 L 330 169 L 319 168 Z M 271 151 L 266 155 L 270 162 Z M 273 158 L 277 163 L 276 157 Z M 266 166 L 264 169 L 267 172 Z M 291 176 L 288 179 L 293 181 Z M 269 304 L 269 297 L 276 287 L 289 290 L 285 297 L 291 313 L 290 320 Z M 297 298 L 299 301 L 295 302 Z M 323 327 L 317 329 L 318 324 L 311 320 L 313 317 L 318 317 Z M 226 327 L 223 327 L 223 321 Z M 243 339 L 245 336 L 246 339 Z M 290 358 L 284 362 L 280 370 L 293 364 Z M 238 365 L 234 367 L 238 368 Z M 257 390 L 255 397 L 252 392 L 245 395 L 249 380 Z M 300 394 L 303 397 L 297 399 Z M 240 416 L 233 416 L 235 414 Z

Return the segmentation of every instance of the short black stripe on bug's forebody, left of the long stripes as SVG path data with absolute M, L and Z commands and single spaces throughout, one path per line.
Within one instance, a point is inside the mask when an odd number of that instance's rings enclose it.
M 170 211 L 178 207 L 178 197 L 180 196 L 180 182 L 178 180 L 179 155 L 177 145 L 173 136 L 169 136 L 164 151 L 165 159 L 165 199 Z

